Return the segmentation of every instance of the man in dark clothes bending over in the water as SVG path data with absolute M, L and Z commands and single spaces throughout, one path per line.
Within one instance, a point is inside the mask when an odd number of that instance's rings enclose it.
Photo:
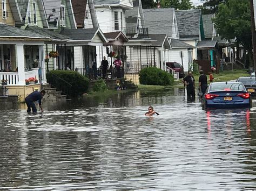
M 31 112 L 31 108 L 32 108 L 32 112 L 36 113 L 37 109 L 36 109 L 36 105 L 35 101 L 38 101 L 39 103 L 39 107 L 41 108 L 41 111 L 43 112 L 43 108 L 42 108 L 42 98 L 45 95 L 45 90 L 42 91 L 33 91 L 31 94 L 29 94 L 28 96 L 26 96 L 25 98 L 25 102 L 26 105 L 28 106 L 28 112 Z

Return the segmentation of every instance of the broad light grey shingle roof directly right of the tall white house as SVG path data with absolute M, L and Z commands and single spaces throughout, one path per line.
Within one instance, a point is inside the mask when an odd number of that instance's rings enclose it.
M 167 34 L 172 37 L 174 8 L 144 9 L 145 26 L 149 34 Z

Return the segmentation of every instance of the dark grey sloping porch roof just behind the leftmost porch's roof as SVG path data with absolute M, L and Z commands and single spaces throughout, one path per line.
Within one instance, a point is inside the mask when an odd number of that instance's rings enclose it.
M 26 26 L 25 30 L 35 32 L 35 33 L 40 34 L 40 35 L 45 36 L 45 37 L 49 37 L 53 41 L 62 41 L 62 40 L 68 40 L 69 39 L 68 36 L 65 36 L 63 34 L 59 34 L 57 32 L 53 32 L 53 31 L 50 31 L 50 30 L 47 30 L 47 29 L 42 29 L 42 28 L 37 27 L 37 26 Z

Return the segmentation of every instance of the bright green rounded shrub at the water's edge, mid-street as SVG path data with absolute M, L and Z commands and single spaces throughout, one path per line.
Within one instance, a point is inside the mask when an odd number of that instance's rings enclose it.
M 140 70 L 139 83 L 145 85 L 166 86 L 173 83 L 173 75 L 156 67 Z

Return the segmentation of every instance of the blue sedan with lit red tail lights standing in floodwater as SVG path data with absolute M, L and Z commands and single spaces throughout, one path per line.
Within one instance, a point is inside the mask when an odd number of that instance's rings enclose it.
M 251 108 L 252 99 L 241 82 L 212 82 L 202 100 L 206 108 Z

